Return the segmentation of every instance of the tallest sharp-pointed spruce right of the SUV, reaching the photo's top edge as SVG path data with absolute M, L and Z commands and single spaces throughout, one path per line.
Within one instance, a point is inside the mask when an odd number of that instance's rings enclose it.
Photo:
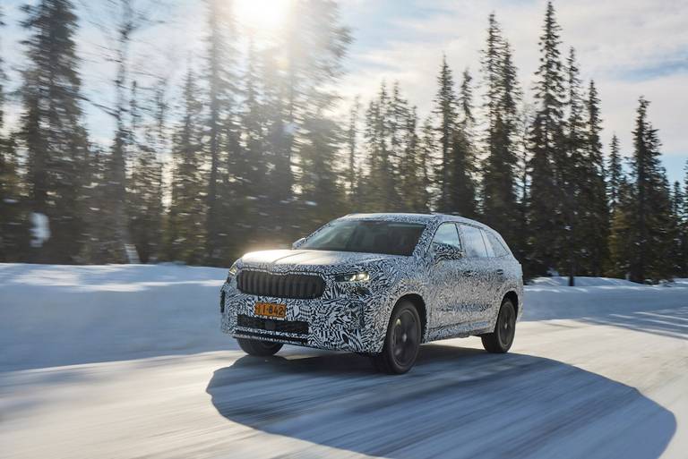
M 560 28 L 555 9 L 547 3 L 540 38 L 540 65 L 534 98 L 536 113 L 530 128 L 530 187 L 528 200 L 529 265 L 536 274 L 555 268 L 566 253 L 566 202 L 563 170 L 564 75 L 559 52 Z

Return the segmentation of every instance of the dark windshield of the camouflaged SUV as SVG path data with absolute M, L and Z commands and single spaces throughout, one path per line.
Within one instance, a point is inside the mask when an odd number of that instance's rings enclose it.
M 426 225 L 376 220 L 341 220 L 325 226 L 300 249 L 410 255 Z

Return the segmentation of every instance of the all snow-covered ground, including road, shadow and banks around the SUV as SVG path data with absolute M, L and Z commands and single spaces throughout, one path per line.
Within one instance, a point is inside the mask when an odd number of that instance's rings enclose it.
M 688 281 L 538 279 L 512 353 L 389 377 L 219 333 L 226 270 L 0 264 L 0 457 L 624 457 L 688 451 Z

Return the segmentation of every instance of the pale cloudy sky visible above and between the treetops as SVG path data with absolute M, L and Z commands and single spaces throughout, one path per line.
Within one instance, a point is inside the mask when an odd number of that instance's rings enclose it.
M 24 35 L 17 21 L 23 17 L 19 5 L 26 1 L 2 0 L 8 27 L 0 30 L 0 38 L 9 61 L 11 87 L 17 81 L 13 69 L 22 63 L 19 41 Z M 278 4 L 288 0 L 238 1 L 245 12 L 254 13 L 255 17 L 246 16 L 249 20 L 257 18 L 263 27 L 274 27 L 279 23 Z M 103 49 L 111 42 L 106 26 L 113 17 L 107 7 L 110 2 L 74 3 L 81 18 L 78 43 L 84 57 L 84 89 L 90 98 L 107 105 L 114 74 L 112 64 L 103 59 L 107 55 Z M 174 83 L 187 62 L 201 59 L 206 11 L 201 0 L 149 4 L 153 5 L 147 10 L 151 21 L 138 34 L 134 60 L 153 63 Z M 659 130 L 669 179 L 683 180 L 688 160 L 684 115 L 688 109 L 688 0 L 555 0 L 554 4 L 563 29 L 562 53 L 575 47 L 584 81 L 594 79 L 598 85 L 606 146 L 616 133 L 624 155 L 631 154 L 633 118 L 642 95 L 651 102 L 649 120 Z M 512 43 L 519 80 L 529 100 L 545 8 L 545 0 L 340 0 L 342 22 L 354 38 L 344 64 L 348 73 L 340 84 L 343 104 L 357 95 L 366 103 L 384 79 L 400 81 L 404 95 L 421 115 L 427 114 L 443 54 L 457 78 L 469 68 L 479 82 L 479 50 L 492 12 Z M 155 21 L 165 23 L 156 25 Z M 107 144 L 112 120 L 94 105 L 85 109 L 92 136 Z

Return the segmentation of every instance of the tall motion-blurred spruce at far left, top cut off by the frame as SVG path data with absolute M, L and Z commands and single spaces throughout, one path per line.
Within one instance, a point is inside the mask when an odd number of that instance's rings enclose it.
M 30 211 L 47 217 L 49 239 L 34 241 L 35 261 L 77 261 L 86 233 L 82 167 L 89 155 L 82 126 L 81 79 L 69 0 L 24 6 L 27 66 L 22 70 L 20 139 L 27 155 Z M 46 234 L 47 235 L 47 234 Z

